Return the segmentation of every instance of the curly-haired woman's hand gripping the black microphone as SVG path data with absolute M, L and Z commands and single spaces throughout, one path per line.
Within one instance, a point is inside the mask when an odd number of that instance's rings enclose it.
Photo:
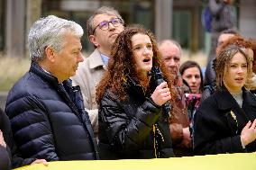
M 163 82 L 156 87 L 153 94 L 151 94 L 151 99 L 154 103 L 160 106 L 171 99 L 169 87 L 166 82 Z

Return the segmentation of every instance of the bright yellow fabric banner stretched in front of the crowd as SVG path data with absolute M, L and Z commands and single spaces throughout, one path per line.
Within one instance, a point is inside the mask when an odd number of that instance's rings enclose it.
M 155 159 L 56 161 L 15 170 L 256 170 L 256 153 Z

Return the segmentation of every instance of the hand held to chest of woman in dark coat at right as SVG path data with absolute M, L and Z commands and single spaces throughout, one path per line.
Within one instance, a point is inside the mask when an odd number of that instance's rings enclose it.
M 241 142 L 244 146 L 247 146 L 256 139 L 256 119 L 251 123 L 245 125 L 241 132 Z

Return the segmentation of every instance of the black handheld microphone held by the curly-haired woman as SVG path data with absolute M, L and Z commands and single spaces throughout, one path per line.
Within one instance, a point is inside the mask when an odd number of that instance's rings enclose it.
M 152 77 L 153 77 L 153 79 L 155 81 L 155 85 L 156 86 L 158 86 L 162 82 L 164 82 L 163 76 L 162 76 L 162 72 L 160 70 L 160 67 L 152 67 L 151 75 L 152 75 Z M 166 118 L 170 118 L 171 117 L 170 110 L 171 110 L 171 105 L 170 105 L 169 101 L 167 101 L 166 103 L 164 103 L 164 116 Z

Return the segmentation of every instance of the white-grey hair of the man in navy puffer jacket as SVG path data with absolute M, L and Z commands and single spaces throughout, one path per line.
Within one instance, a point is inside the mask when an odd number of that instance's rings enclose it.
M 84 34 L 82 27 L 78 23 L 54 15 L 49 15 L 34 22 L 28 35 L 31 60 L 42 60 L 44 49 L 47 47 L 59 52 L 63 48 L 63 39 L 67 31 L 79 38 Z

